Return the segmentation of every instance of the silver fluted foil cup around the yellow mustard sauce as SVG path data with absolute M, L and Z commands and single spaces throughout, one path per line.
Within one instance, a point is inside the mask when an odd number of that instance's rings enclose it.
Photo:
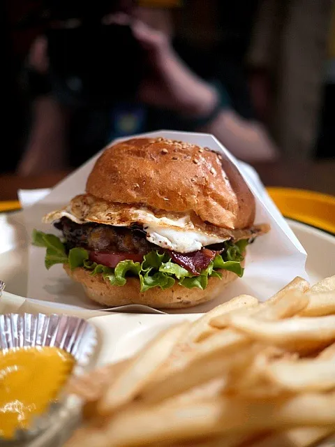
M 64 349 L 75 359 L 72 374 L 82 374 L 89 366 L 96 344 L 96 328 L 83 318 L 58 314 L 0 315 L 1 350 L 34 346 Z M 73 407 L 70 397 L 60 392 L 57 402 L 51 403 L 45 414 L 36 417 L 29 430 L 17 430 L 13 440 L 0 437 L 0 446 L 26 446 L 27 441 L 50 430 L 69 405 Z

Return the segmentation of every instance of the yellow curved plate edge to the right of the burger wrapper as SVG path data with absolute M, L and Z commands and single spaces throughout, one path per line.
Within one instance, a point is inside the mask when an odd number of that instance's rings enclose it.
M 281 213 L 335 234 L 335 197 L 305 189 L 267 188 Z

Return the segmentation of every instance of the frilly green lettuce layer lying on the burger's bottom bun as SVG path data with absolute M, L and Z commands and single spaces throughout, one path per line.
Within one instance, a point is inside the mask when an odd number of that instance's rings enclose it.
M 70 249 L 67 254 L 64 243 L 55 235 L 34 230 L 32 239 L 34 245 L 47 249 L 45 255 L 47 269 L 57 263 L 68 263 L 71 270 L 83 267 L 91 270 L 91 275 L 102 274 L 105 281 L 110 281 L 110 284 L 115 286 L 124 286 L 129 276 L 138 277 L 142 292 L 153 287 L 160 287 L 163 290 L 172 287 L 176 279 L 181 286 L 198 287 L 203 290 L 207 287 L 209 277 L 222 277 L 221 272 L 216 271 L 218 269 L 229 270 L 241 277 L 244 272 L 241 261 L 244 259 L 243 253 L 248 244 L 247 240 L 240 240 L 236 244 L 226 242 L 223 254 L 216 255 L 207 269 L 202 270 L 200 275 L 193 276 L 191 272 L 174 263 L 167 253 L 159 254 L 156 250 L 144 255 L 142 263 L 121 261 L 115 268 L 110 268 L 89 261 L 89 252 L 83 248 Z

